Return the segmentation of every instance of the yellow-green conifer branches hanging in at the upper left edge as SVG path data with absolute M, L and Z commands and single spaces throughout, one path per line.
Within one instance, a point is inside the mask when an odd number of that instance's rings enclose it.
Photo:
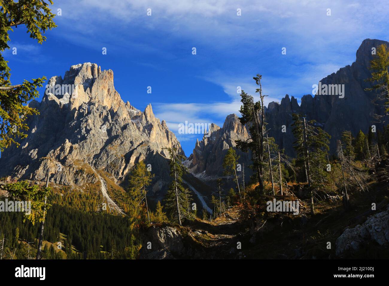
M 53 4 L 51 0 L 47 1 Z M 9 49 L 9 32 L 23 25 L 30 37 L 42 44 L 46 30 L 56 27 L 54 14 L 44 0 L 30 1 L 0 1 L 0 152 L 11 144 L 19 143 L 16 137 L 25 138 L 24 130 L 28 126 L 24 121 L 28 115 L 37 114 L 37 110 L 26 105 L 31 99 L 39 97 L 38 87 L 42 87 L 46 77 L 23 81 L 21 84 L 11 84 L 11 68 L 2 54 Z

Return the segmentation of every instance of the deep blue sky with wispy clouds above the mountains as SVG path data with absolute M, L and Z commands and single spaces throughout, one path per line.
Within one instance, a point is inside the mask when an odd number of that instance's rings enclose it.
M 380 0 L 54 0 L 53 12 L 60 8 L 62 15 L 47 41 L 37 44 L 19 26 L 9 43 L 18 53 L 4 56 L 13 84 L 63 76 L 84 62 L 112 69 L 121 98 L 140 110 L 151 103 L 189 156 L 202 135 L 179 134 L 179 123 L 222 126 L 228 114 L 238 114 L 237 86 L 254 94 L 257 73 L 268 102 L 311 93 L 312 84 L 355 60 L 364 39 L 389 40 L 386 6 Z

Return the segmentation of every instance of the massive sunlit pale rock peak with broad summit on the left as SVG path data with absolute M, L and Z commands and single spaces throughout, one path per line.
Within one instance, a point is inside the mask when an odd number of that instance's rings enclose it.
M 121 100 L 113 78 L 112 70 L 102 71 L 94 63 L 73 65 L 63 79 L 51 77 L 48 84 L 61 88 L 49 87 L 41 102 L 30 102 L 40 114 L 27 119 L 30 129 L 20 147 L 2 154 L 0 176 L 41 181 L 51 165 L 51 182 L 81 186 L 96 181 L 93 170 L 119 181 L 134 163 L 145 160 L 156 174 L 153 193 L 158 193 L 168 181 L 163 148 L 184 152 L 151 105 L 142 112 Z M 68 85 L 74 85 L 73 91 Z

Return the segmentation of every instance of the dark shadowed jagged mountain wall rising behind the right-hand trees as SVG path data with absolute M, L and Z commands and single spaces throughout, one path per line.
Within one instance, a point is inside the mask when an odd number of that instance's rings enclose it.
M 344 98 L 337 95 L 304 95 L 299 106 L 296 98 L 286 95 L 281 103 L 271 102 L 266 109 L 266 122 L 270 128 L 270 136 L 286 153 L 294 156 L 293 134 L 290 126 L 293 121 L 291 114 L 301 112 L 307 119 L 315 119 L 331 135 L 331 151 L 335 151 L 336 140 L 345 130 L 350 130 L 354 136 L 359 130 L 368 132 L 373 124 L 382 128 L 374 118 L 375 114 L 384 114 L 382 106 L 373 104 L 375 91 L 365 91 L 372 84 L 365 79 L 371 76 L 370 61 L 373 58 L 371 48 L 378 48 L 381 44 L 389 46 L 389 42 L 366 39 L 356 53 L 356 61 L 352 65 L 341 68 L 336 73 L 321 80 L 322 84 L 344 84 Z M 282 132 L 282 125 L 286 125 L 286 132 Z

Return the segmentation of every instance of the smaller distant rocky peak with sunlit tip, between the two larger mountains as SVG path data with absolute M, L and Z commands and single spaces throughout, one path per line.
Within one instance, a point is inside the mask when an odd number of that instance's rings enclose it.
M 201 141 L 197 140 L 193 154 L 189 157 L 191 173 L 200 177 L 222 176 L 223 159 L 228 149 L 237 146 L 236 140 L 249 138 L 246 127 L 242 126 L 236 114 L 228 115 L 222 128 L 212 124 L 209 129 L 210 136 L 204 136 Z M 238 163 L 242 165 L 244 163 L 247 166 L 250 161 L 249 154 L 239 149 L 237 149 L 237 154 L 240 156 Z

